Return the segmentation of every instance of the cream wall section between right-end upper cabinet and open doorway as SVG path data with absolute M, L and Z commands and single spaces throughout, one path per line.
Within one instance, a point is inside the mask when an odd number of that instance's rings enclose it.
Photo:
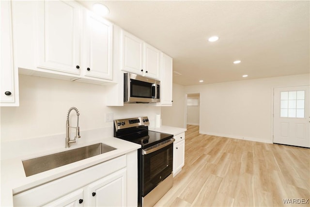
M 185 87 L 173 83 L 172 107 L 161 107 L 161 124 L 170 127 L 186 128 L 186 94 Z

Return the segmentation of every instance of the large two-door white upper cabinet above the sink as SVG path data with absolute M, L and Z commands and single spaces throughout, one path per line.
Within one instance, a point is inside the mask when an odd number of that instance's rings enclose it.
M 13 1 L 19 72 L 106 84 L 112 80 L 113 25 L 76 1 Z

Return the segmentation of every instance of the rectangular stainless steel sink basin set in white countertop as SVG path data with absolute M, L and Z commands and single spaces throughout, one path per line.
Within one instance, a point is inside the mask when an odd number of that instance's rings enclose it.
M 96 143 L 89 146 L 84 146 L 77 149 L 72 149 L 38 158 L 26 159 L 22 162 L 26 177 L 28 177 L 30 175 L 42 173 L 47 170 L 51 170 L 82 159 L 91 158 L 93 156 L 100 155 L 115 149 L 116 148 L 104 143 Z

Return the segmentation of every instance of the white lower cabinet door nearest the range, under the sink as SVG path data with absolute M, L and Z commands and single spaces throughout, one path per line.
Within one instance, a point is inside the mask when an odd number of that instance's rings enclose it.
M 124 207 L 126 204 L 126 169 L 108 175 L 88 187 L 88 200 L 94 207 Z

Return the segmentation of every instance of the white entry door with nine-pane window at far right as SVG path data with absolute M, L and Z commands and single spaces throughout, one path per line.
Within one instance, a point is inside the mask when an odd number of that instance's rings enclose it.
M 309 89 L 274 88 L 273 143 L 310 147 Z

